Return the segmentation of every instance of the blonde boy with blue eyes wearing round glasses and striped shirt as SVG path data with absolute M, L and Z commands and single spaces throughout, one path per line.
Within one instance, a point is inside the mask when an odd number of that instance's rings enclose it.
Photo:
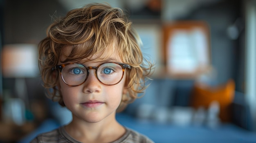
M 153 143 L 115 119 L 146 88 L 152 64 L 123 11 L 93 3 L 69 11 L 39 44 L 39 66 L 49 97 L 72 121 L 31 143 Z

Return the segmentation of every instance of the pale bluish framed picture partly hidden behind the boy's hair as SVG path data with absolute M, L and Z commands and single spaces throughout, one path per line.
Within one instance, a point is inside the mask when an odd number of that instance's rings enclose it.
M 159 24 L 134 24 L 143 45 L 141 51 L 144 57 L 155 63 L 153 76 L 159 77 L 164 72 L 162 57 L 162 27 Z

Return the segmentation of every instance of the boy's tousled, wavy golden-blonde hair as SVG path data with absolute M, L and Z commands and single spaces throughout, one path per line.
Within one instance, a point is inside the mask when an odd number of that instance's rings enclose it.
M 71 52 L 65 55 L 62 49 L 67 45 L 70 45 Z M 153 66 L 143 57 L 141 40 L 127 14 L 108 4 L 87 4 L 69 11 L 64 18 L 54 20 L 47 29 L 47 37 L 38 46 L 38 63 L 47 96 L 62 106 L 65 103 L 58 90 L 59 73 L 52 70 L 61 56 L 65 57 L 65 61 L 61 62 L 79 61 L 94 54 L 101 54 L 97 59 L 106 59 L 117 51 L 122 62 L 132 67 L 126 69 L 128 94 L 123 95 L 119 111 L 146 89 L 145 79 L 150 76 Z M 54 72 L 57 76 L 53 76 Z

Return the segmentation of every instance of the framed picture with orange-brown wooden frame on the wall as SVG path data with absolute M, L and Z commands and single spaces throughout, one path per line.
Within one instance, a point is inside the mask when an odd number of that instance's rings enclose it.
M 177 21 L 163 25 L 167 75 L 194 78 L 210 66 L 209 26 L 203 21 Z

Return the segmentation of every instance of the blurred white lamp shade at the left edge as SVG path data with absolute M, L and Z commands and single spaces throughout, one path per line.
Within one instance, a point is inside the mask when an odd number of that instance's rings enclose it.
M 34 44 L 7 44 L 2 49 L 3 77 L 38 76 L 37 46 Z

